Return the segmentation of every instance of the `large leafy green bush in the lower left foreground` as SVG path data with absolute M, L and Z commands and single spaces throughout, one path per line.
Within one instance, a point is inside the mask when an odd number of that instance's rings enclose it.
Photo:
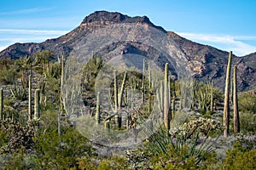
M 94 151 L 87 144 L 88 139 L 73 127 L 62 127 L 61 136 L 56 128 L 44 133 L 41 129 L 35 138 L 37 167 L 44 169 L 68 169 L 77 166 L 77 159 L 93 156 Z

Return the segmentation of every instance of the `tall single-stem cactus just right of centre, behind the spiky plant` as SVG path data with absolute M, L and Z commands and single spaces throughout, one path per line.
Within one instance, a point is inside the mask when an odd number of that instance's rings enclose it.
M 165 86 L 165 94 L 164 94 L 164 122 L 166 126 L 167 132 L 170 130 L 170 121 L 171 121 L 171 115 L 169 114 L 169 87 L 168 87 L 168 63 L 166 63 L 165 67 L 165 79 L 164 79 L 164 86 Z

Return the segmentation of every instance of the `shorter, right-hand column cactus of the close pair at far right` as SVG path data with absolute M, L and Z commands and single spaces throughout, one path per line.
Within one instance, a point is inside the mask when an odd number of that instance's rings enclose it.
M 234 66 L 234 78 L 233 78 L 233 105 L 234 105 L 234 133 L 240 133 L 240 122 L 237 102 L 237 82 L 236 82 L 236 65 Z

